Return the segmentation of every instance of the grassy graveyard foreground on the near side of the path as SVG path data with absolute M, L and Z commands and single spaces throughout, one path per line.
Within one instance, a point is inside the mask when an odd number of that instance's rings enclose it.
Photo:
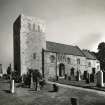
M 58 85 L 58 92 L 52 92 L 52 84 L 46 84 L 40 91 L 34 88 L 17 87 L 9 93 L 10 81 L 0 80 L 0 105 L 71 105 L 75 97 L 79 105 L 105 105 L 105 93 L 79 87 Z

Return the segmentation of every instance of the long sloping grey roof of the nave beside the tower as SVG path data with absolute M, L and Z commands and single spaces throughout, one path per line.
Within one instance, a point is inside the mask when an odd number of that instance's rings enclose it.
M 64 53 L 64 54 L 82 56 L 82 57 L 85 56 L 78 46 L 46 41 L 46 49 L 47 51 L 51 52 Z

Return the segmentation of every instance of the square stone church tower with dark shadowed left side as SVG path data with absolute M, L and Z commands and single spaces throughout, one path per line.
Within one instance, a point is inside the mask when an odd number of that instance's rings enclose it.
M 42 50 L 46 49 L 45 24 L 42 20 L 20 15 L 13 24 L 14 69 L 19 75 L 29 68 L 42 73 Z

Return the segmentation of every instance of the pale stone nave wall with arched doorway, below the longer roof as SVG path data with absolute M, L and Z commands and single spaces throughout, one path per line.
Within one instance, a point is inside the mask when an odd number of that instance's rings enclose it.
M 55 57 L 55 60 L 51 62 L 51 56 Z M 68 58 L 70 58 L 70 62 L 68 62 Z M 77 64 L 77 59 L 80 59 L 80 64 Z M 44 74 L 47 78 L 59 76 L 59 65 L 65 65 L 65 73 L 70 75 L 71 68 L 74 68 L 74 72 L 76 75 L 76 71 L 80 70 L 81 74 L 86 70 L 86 58 L 81 56 L 74 56 L 68 54 L 61 53 L 53 53 L 49 51 L 45 51 L 44 53 Z

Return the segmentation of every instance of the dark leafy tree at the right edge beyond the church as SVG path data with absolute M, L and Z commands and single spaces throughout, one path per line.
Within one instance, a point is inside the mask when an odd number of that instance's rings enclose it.
M 99 43 L 97 58 L 100 61 L 101 70 L 105 71 L 105 42 Z

